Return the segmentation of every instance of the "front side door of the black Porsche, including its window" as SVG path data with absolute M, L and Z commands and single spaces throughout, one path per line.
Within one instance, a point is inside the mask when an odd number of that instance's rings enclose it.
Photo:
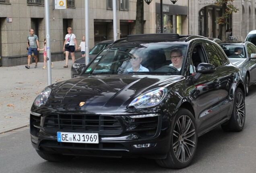
M 197 69 L 201 62 L 207 62 L 206 51 L 200 43 L 193 48 L 192 61 Z M 207 56 L 206 56 L 207 55 Z M 214 125 L 219 117 L 219 82 L 217 72 L 202 74 L 194 83 L 197 94 L 196 117 L 198 131 L 203 131 Z

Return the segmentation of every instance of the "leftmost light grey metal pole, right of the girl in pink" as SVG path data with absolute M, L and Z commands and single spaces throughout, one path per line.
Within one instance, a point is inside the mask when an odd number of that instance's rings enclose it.
M 49 16 L 49 0 L 45 0 L 45 40 L 46 40 L 46 60 L 47 60 L 47 84 L 52 84 L 52 58 L 51 58 L 51 41 L 50 41 L 50 16 Z

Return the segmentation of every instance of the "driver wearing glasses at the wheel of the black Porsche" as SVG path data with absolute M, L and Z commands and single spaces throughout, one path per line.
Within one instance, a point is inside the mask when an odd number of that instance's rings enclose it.
M 173 48 L 171 50 L 171 64 L 169 64 L 169 66 L 173 66 L 175 68 L 177 68 L 177 70 L 180 71 L 180 69 L 182 68 L 182 62 L 183 62 L 183 52 L 180 48 Z M 195 69 L 195 67 L 194 67 Z M 190 64 L 190 73 L 193 74 L 193 67 Z

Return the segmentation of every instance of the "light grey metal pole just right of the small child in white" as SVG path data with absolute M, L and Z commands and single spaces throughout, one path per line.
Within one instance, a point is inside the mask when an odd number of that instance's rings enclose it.
M 85 0 L 85 64 L 89 60 L 89 0 Z

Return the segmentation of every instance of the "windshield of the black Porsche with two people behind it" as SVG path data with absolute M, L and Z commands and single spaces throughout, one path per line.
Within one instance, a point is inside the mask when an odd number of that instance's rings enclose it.
M 173 51 L 174 50 L 174 51 Z M 103 50 L 86 68 L 87 74 L 178 74 L 184 62 L 186 45 L 129 43 Z

